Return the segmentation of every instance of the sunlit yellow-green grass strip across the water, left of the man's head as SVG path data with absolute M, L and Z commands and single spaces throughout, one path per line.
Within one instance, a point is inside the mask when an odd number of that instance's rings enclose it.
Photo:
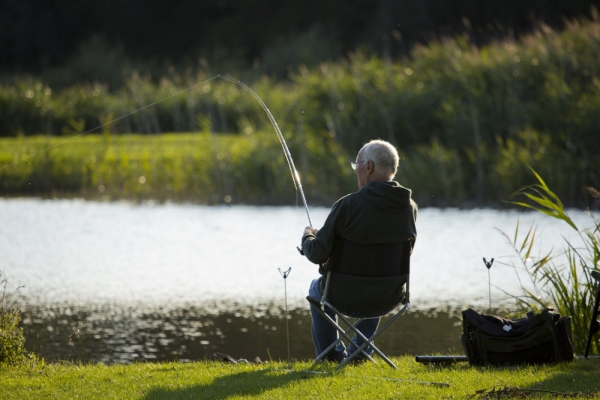
M 301 143 L 296 166 L 314 202 L 353 190 L 350 158 L 335 142 Z M 320 165 L 315 174 L 304 173 Z M 290 169 L 275 133 L 84 135 L 0 139 L 0 195 L 294 204 Z

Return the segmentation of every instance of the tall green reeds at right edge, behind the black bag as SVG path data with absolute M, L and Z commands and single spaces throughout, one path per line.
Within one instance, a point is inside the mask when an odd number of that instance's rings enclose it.
M 583 246 L 576 247 L 565 239 L 563 253 L 549 252 L 535 258 L 532 255 L 537 239 L 535 229 L 530 228 L 519 243 L 517 224 L 514 237 L 510 241 L 519 255 L 520 264 L 531 278 L 533 289 L 522 285 L 522 295 L 514 298 L 525 311 L 551 307 L 563 316 L 570 315 L 572 329 L 578 333 L 573 335 L 575 352 L 583 354 L 587 342 L 587 335 L 583 335 L 583 332 L 587 332 L 590 326 L 591 308 L 597 286 L 591 272 L 600 269 L 600 221 L 590 213 L 593 227 L 587 230 L 578 228 L 567 214 L 559 197 L 537 172 L 533 169 L 532 172 L 538 183 L 514 193 L 514 196 L 524 196 L 528 201 L 511 203 L 565 222 L 570 229 L 579 234 Z M 597 192 L 591 189 L 590 193 Z M 598 343 L 594 342 L 592 351 L 597 350 Z

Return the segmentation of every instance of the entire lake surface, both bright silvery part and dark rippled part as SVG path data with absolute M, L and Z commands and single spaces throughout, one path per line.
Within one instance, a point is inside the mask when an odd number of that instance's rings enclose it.
M 328 212 L 311 208 L 313 225 L 320 227 Z M 591 225 L 583 211 L 569 214 L 579 226 Z M 438 313 L 431 310 L 487 309 L 484 257 L 495 259 L 492 306 L 510 305 L 505 292 L 520 293 L 511 266 L 518 263 L 500 231 L 512 237 L 517 221 L 521 239 L 530 226 L 537 226 L 536 255 L 561 250 L 563 237 L 578 243 L 577 233 L 565 223 L 539 213 L 420 210 L 411 310 L 421 311 L 413 320 L 429 316 L 434 321 Z M 46 338 L 32 344 L 46 357 L 195 359 L 235 348 L 249 335 L 256 346 L 246 349 L 252 356 L 265 357 L 261 344 L 266 341 L 277 347 L 271 356 L 283 357 L 286 290 L 292 329 L 305 343 L 294 356 L 304 357 L 312 351 L 305 332 L 310 325 L 305 296 L 317 276 L 317 266 L 296 250 L 307 222 L 303 207 L 0 199 L 0 270 L 9 278 L 8 293 L 23 286 L 14 298 L 24 309 L 28 338 Z M 284 280 L 278 269 L 288 268 L 291 273 Z M 443 319 L 446 328 L 435 330 L 451 332 L 455 340 L 460 333 L 457 313 L 448 311 Z M 422 331 L 432 331 L 429 326 Z M 194 344 L 204 350 L 190 350 Z M 428 348 L 443 352 L 455 344 Z M 65 349 L 59 351 L 62 345 Z M 422 347 L 414 344 L 392 353 Z

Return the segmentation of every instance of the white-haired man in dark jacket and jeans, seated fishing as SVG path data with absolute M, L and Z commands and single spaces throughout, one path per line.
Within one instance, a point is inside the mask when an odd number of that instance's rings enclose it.
M 320 278 L 312 281 L 309 296 L 321 298 L 322 281 L 326 274 L 327 260 L 332 254 L 336 237 L 361 244 L 394 243 L 415 240 L 417 230 L 417 204 L 411 198 L 411 190 L 394 181 L 398 168 L 398 151 L 383 140 L 365 144 L 356 161 L 351 163 L 358 179 L 357 192 L 339 199 L 332 207 L 323 227 L 306 227 L 302 236 L 302 250 L 309 261 L 320 264 Z M 323 268 L 324 266 L 324 268 Z M 335 318 L 331 311 L 326 312 Z M 337 330 L 311 307 L 312 337 L 317 355 L 338 338 Z M 379 318 L 365 319 L 358 329 L 370 337 L 377 330 Z M 341 362 L 362 344 L 354 340 L 346 352 L 340 342 L 329 352 L 326 359 Z M 373 350 L 367 347 L 367 354 Z M 360 357 L 357 357 L 360 361 Z

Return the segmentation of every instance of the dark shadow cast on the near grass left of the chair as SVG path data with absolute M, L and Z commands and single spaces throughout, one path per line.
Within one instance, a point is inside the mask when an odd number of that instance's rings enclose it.
M 303 371 L 281 371 L 274 369 L 246 371 L 221 376 L 207 384 L 199 384 L 186 388 L 155 388 L 148 393 L 145 399 L 227 399 L 232 396 L 255 396 L 272 389 L 287 386 L 293 382 L 314 377 L 314 374 Z

